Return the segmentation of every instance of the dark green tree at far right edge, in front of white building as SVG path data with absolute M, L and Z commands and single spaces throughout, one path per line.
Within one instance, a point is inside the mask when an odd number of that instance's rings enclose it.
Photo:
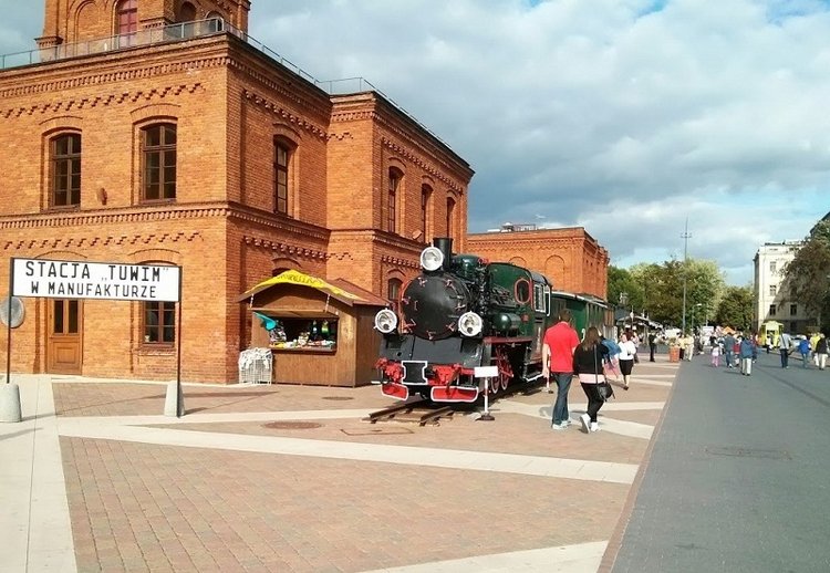
M 821 329 L 830 323 L 830 221 L 819 221 L 785 268 L 786 288 Z

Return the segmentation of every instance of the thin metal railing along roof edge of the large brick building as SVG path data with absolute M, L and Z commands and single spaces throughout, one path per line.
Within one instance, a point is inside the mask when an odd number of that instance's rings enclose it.
M 447 145 L 428 127 L 417 121 L 409 112 L 398 105 L 397 102 L 372 85 L 372 83 L 364 77 L 346 77 L 342 80 L 328 81 L 317 80 L 299 65 L 274 52 L 259 40 L 251 38 L 242 30 L 239 30 L 238 28 L 229 24 L 221 18 L 209 18 L 206 20 L 195 20 L 191 22 L 179 22 L 160 28 L 139 30 L 129 34 L 111 35 L 102 39 L 86 40 L 84 42 L 58 44 L 50 48 L 38 48 L 35 50 L 28 50 L 25 52 L 15 52 L 11 54 L 0 55 L 0 70 L 9 70 L 12 67 L 55 62 L 85 55 L 102 54 L 106 52 L 115 52 L 139 46 L 183 42 L 186 40 L 193 40 L 195 38 L 219 33 L 230 33 L 232 35 L 236 35 L 237 38 L 240 38 L 248 44 L 252 45 L 260 52 L 277 61 L 280 65 L 287 67 L 294 74 L 323 90 L 329 95 L 343 95 L 366 91 L 376 92 L 377 94 L 383 96 L 384 100 L 395 106 L 395 108 L 397 108 L 401 113 L 415 122 L 421 128 L 438 139 L 442 144 Z M 447 145 L 447 147 L 449 146 Z

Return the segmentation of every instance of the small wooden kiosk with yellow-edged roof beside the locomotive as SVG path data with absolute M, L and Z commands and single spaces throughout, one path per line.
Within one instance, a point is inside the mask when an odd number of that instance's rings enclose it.
M 355 387 L 375 376 L 385 299 L 343 279 L 286 271 L 239 295 L 250 309 L 250 346 L 273 354 L 273 382 Z

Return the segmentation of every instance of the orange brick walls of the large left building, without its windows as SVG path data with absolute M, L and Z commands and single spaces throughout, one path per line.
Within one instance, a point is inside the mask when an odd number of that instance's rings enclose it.
M 463 159 L 376 94 L 353 100 L 231 37 L 0 71 L 0 279 L 11 257 L 181 265 L 183 379 L 236 382 L 245 290 L 298 269 L 385 296 L 417 272 L 422 181 L 442 198 L 437 233 L 446 194 L 466 211 Z M 177 126 L 176 200 L 144 204 L 141 129 L 156 121 Z M 50 209 L 49 140 L 66 131 L 82 134 L 81 205 Z M 274 136 L 294 146 L 287 216 L 273 212 Z M 380 229 L 391 160 L 407 177 L 398 233 Z M 25 300 L 15 372 L 49 369 L 49 304 Z M 81 331 L 84 375 L 175 379 L 176 348 L 144 344 L 141 303 L 85 301 Z

